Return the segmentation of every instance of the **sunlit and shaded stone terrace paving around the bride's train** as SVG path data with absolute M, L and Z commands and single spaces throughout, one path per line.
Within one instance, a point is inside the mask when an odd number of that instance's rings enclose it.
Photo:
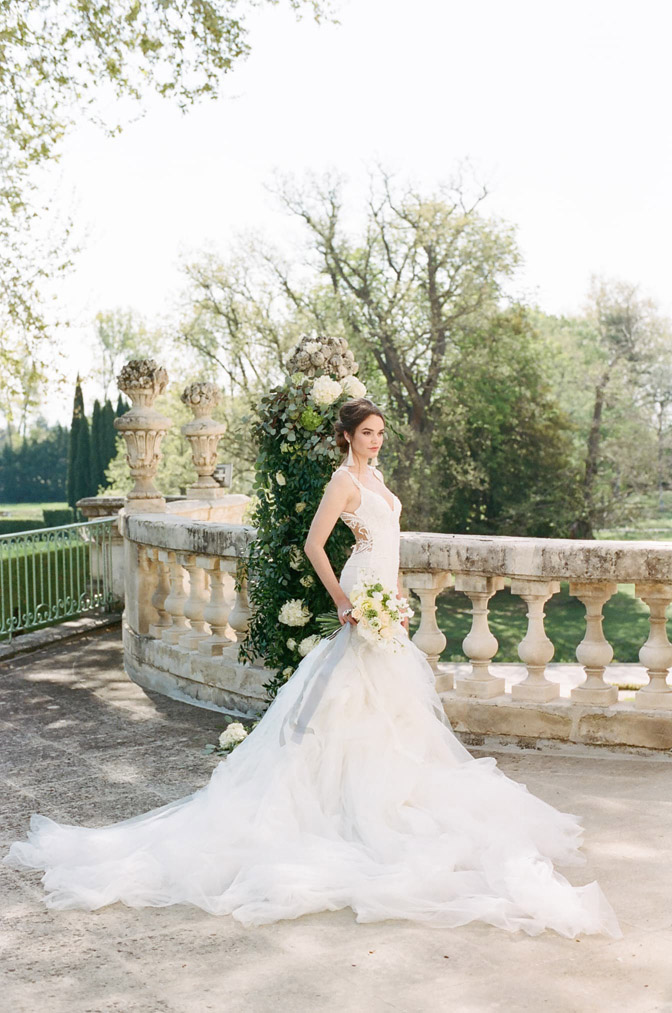
M 0 851 L 40 811 L 103 825 L 204 784 L 216 712 L 148 696 L 118 631 L 5 663 Z M 671 715 L 672 720 L 672 715 Z M 672 758 L 498 748 L 502 769 L 586 828 L 621 940 L 486 925 L 358 925 L 351 911 L 244 929 L 188 907 L 49 912 L 40 873 L 0 865 L 6 1013 L 672 1013 Z

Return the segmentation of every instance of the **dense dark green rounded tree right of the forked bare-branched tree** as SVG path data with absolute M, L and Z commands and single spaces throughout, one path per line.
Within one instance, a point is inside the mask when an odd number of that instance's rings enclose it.
M 580 512 L 573 424 L 523 307 L 466 331 L 442 409 L 440 530 L 566 538 Z

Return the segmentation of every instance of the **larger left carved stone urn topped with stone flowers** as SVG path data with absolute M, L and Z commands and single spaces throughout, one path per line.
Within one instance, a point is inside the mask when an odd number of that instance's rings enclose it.
M 154 478 L 161 460 L 161 441 L 172 423 L 152 405 L 167 383 L 168 374 L 153 359 L 133 359 L 117 378 L 120 390 L 133 402 L 125 415 L 115 419 L 115 428 L 126 440 L 126 460 L 135 479 L 126 503 L 132 513 L 165 510 L 165 499 L 154 485 Z

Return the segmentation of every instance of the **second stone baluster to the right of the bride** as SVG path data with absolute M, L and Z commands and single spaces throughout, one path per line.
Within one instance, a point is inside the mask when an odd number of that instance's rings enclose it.
M 456 681 L 458 696 L 488 700 L 501 696 L 506 690 L 504 679 L 494 676 L 490 671 L 490 663 L 500 645 L 488 624 L 488 603 L 503 587 L 503 576 L 455 574 L 455 590 L 461 591 L 471 601 L 471 629 L 462 641 L 464 653 L 471 661 L 471 672 L 464 679 Z

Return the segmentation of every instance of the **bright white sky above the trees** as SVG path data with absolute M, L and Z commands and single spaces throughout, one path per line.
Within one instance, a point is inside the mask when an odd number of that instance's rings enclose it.
M 518 225 L 519 294 L 573 312 L 597 272 L 672 313 L 672 5 L 337 3 L 341 25 L 255 14 L 252 54 L 217 102 L 182 116 L 156 99 L 121 137 L 70 139 L 59 202 L 85 245 L 59 294 L 79 325 L 69 375 L 87 368 L 99 309 L 170 312 L 182 253 L 226 252 L 247 229 L 282 242 L 276 170 L 335 168 L 357 187 L 379 160 L 431 185 L 468 159 L 491 188 L 482 211 Z M 85 388 L 87 408 L 97 393 Z M 50 418 L 68 421 L 71 402 L 52 397 Z

